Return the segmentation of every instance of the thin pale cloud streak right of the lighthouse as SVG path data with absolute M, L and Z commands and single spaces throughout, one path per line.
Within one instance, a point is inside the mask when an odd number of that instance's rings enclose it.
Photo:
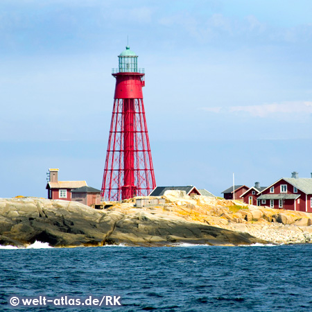
M 221 114 L 246 113 L 249 116 L 260 118 L 283 117 L 293 118 L 294 116 L 306 116 L 312 114 L 312 101 L 292 101 L 283 103 L 271 103 L 263 105 L 245 105 L 231 107 L 202 107 L 207 112 Z

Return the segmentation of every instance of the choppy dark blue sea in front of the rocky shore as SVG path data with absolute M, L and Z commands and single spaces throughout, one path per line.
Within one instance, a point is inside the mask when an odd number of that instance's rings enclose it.
M 312 311 L 310 244 L 49 248 L 36 242 L 0 248 L 0 265 L 0 311 Z M 40 305 L 40 296 L 51 303 Z M 99 306 L 103 296 L 116 302 Z M 37 301 L 12 306 L 12 298 Z M 77 298 L 89 301 L 73 306 Z

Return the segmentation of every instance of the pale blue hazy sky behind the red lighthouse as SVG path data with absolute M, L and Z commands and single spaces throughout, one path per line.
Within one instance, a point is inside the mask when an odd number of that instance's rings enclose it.
M 157 186 L 311 177 L 311 0 L 1 0 L 0 197 L 101 189 L 127 40 Z

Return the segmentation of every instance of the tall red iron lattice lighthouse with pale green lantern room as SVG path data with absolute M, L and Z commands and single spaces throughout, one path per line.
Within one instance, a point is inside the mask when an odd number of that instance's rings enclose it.
M 101 191 L 103 200 L 147 196 L 156 187 L 143 103 L 144 69 L 137 68 L 137 55 L 129 46 L 118 58 L 119 68 L 112 70 L 116 87 Z

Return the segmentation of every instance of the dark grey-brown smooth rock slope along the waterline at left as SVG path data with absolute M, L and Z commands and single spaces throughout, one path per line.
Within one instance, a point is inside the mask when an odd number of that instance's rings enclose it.
M 0 200 L 0 244 L 25 246 L 35 241 L 54 247 L 175 243 L 245 245 L 266 243 L 248 233 L 193 223 L 153 209 L 128 207 L 98 211 L 76 202 L 18 198 Z

